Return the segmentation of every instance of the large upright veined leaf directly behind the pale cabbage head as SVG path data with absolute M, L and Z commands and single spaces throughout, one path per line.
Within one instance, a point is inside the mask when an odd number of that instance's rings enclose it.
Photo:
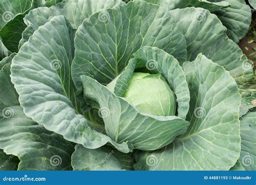
M 184 36 L 170 13 L 158 5 L 129 2 L 96 12 L 76 32 L 72 63 L 76 87 L 82 87 L 81 75 L 109 84 L 142 46 L 156 46 L 181 61 L 186 59 Z

